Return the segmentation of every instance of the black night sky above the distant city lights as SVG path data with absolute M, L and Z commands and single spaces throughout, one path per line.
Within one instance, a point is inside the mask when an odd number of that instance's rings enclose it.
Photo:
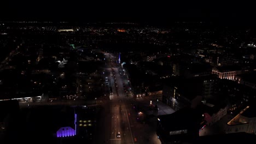
M 189 1 L 8 1 L 0 20 L 169 21 L 236 20 L 254 17 L 253 4 Z

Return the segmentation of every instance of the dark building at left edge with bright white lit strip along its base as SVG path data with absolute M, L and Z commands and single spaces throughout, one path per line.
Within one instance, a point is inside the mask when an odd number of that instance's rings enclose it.
M 43 99 L 42 75 L 23 74 L 24 71 L 5 69 L 0 72 L 0 100 L 38 101 Z M 44 79 L 50 80 L 50 79 Z

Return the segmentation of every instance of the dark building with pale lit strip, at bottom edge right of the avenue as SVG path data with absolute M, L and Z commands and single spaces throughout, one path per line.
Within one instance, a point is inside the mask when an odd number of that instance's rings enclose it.
M 201 118 L 202 113 L 191 108 L 158 116 L 156 134 L 161 143 L 193 143 L 199 137 Z

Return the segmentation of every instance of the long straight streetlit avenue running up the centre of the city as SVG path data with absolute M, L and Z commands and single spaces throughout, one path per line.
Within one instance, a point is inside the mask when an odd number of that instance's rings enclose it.
M 123 77 L 119 75 L 117 64 L 112 56 L 112 64 L 109 55 L 106 65 L 106 76 L 109 77 L 109 86 L 113 88 L 113 94 L 109 94 L 109 100 L 103 106 L 101 121 L 99 124 L 99 139 L 96 143 L 134 143 L 130 125 L 130 109 L 127 107 L 127 94 L 123 87 Z M 112 69 L 113 67 L 113 69 Z M 110 77 L 110 72 L 113 77 Z M 120 133 L 120 137 L 118 137 Z

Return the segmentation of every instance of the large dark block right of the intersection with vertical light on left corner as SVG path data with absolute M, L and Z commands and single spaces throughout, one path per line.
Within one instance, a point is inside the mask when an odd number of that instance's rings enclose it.
M 218 81 L 217 75 L 167 79 L 163 86 L 162 101 L 172 109 L 179 110 L 189 106 L 198 95 L 204 100 L 212 99 L 216 94 Z

